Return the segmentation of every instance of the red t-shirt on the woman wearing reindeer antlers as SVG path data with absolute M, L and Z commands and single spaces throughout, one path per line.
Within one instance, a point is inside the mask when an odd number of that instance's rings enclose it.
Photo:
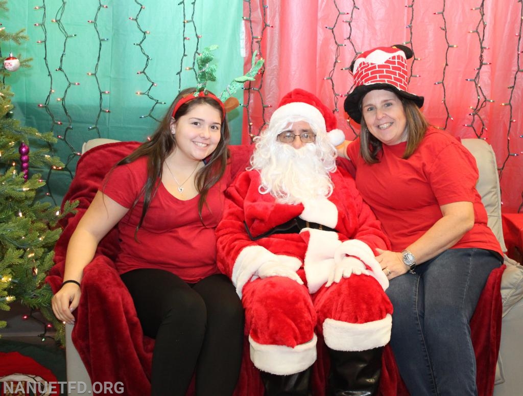
M 100 187 L 105 195 L 131 208 L 145 184 L 147 159 L 117 166 Z M 230 184 L 230 166 L 224 177 L 208 192 L 203 205 L 202 224 L 198 216 L 199 195 L 182 201 L 160 184 L 151 200 L 135 240 L 135 230 L 143 208 L 143 196 L 118 223 L 120 253 L 116 266 L 120 274 L 138 268 L 159 268 L 189 283 L 219 273 L 216 266 L 214 229 L 223 212 L 223 191 Z

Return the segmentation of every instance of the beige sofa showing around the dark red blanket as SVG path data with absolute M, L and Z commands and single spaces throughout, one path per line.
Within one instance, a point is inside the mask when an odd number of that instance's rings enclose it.
M 115 142 L 115 140 L 91 140 L 84 144 L 82 152 L 96 145 L 110 142 Z M 477 190 L 482 196 L 488 213 L 488 225 L 501 242 L 503 250 L 506 251 L 494 151 L 481 139 L 463 139 L 462 143 L 476 158 L 480 170 Z M 523 267 L 508 257 L 505 259 L 505 264 L 507 269 L 503 275 L 501 290 L 503 300 L 502 338 L 496 367 L 495 396 L 515 396 L 521 394 L 523 390 L 523 337 L 521 336 L 523 334 Z M 72 329 L 72 325 L 65 326 L 67 381 L 84 382 L 87 386 L 86 391 L 92 391 L 87 371 L 71 340 Z M 76 395 L 77 393 L 70 394 Z

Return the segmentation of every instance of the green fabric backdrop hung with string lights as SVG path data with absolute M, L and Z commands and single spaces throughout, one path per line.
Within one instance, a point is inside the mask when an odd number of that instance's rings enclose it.
M 74 153 L 81 151 L 84 141 L 98 137 L 96 128 L 89 130 L 89 127 L 97 125 L 103 138 L 139 141 L 156 128 L 153 118 L 140 117 L 149 114 L 154 100 L 135 94 L 151 87 L 146 76 L 137 73 L 144 70 L 147 62 L 140 46 L 135 45 L 143 37 L 140 29 L 150 32 L 142 42 L 143 51 L 150 58 L 145 72 L 156 84 L 149 94 L 166 103 L 154 108 L 155 118 L 162 118 L 180 87 L 195 84 L 194 71 L 186 67 L 194 64 L 197 49 L 212 44 L 219 46 L 213 52 L 214 63 L 218 65 L 217 82 L 209 84 L 213 92 L 219 94 L 234 77 L 243 75 L 242 1 L 106 0 L 102 4 L 108 8 L 99 9 L 97 0 L 67 3 L 10 0 L 9 12 L 0 14 L 7 31 L 26 28 L 29 36 L 29 41 L 20 46 L 4 44 L 2 55 L 13 52 L 33 58 L 30 69 L 20 69 L 6 80 L 15 93 L 15 117 L 39 131 L 52 130 L 55 136 L 65 135 L 65 141 L 60 140 L 54 149 L 70 172 L 53 171 L 49 176 L 47 169 L 41 172 L 48 178 L 51 196 L 58 203 L 74 173 L 78 158 Z M 44 9 L 35 9 L 42 5 Z M 130 17 L 137 18 L 140 27 Z M 96 24 L 88 22 L 95 18 Z M 52 22 L 52 19 L 58 21 Z M 184 23 L 184 19 L 188 22 Z M 35 26 L 42 22 L 43 27 Z M 108 40 L 100 42 L 98 32 L 100 38 Z M 66 39 L 65 35 L 75 36 Z M 47 45 L 37 43 L 44 39 Z M 56 71 L 61 60 L 63 72 Z M 99 88 L 96 77 L 87 75 L 95 72 L 97 64 Z M 67 78 L 73 83 L 69 89 Z M 76 82 L 79 85 L 74 85 Z M 46 102 L 50 89 L 54 90 L 48 106 L 52 116 L 38 107 Z M 110 91 L 108 95 L 101 95 L 101 105 L 100 90 Z M 242 92 L 236 97 L 242 103 Z M 109 109 L 110 113 L 101 112 L 96 122 L 100 108 Z M 62 125 L 53 124 L 53 117 Z M 241 108 L 234 110 L 229 120 L 233 143 L 240 143 Z M 72 129 L 67 129 L 68 126 Z

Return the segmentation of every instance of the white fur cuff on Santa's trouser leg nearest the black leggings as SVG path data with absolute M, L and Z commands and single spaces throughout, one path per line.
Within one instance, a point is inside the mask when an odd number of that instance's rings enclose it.
M 262 371 L 279 376 L 296 374 L 312 366 L 316 361 L 316 341 L 311 341 L 290 348 L 285 345 L 258 344 L 249 336 L 251 360 Z

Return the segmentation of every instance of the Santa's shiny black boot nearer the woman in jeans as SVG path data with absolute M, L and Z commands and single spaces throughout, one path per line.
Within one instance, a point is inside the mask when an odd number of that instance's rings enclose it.
M 328 350 L 331 374 L 328 396 L 374 396 L 378 394 L 383 347 L 359 352 Z

